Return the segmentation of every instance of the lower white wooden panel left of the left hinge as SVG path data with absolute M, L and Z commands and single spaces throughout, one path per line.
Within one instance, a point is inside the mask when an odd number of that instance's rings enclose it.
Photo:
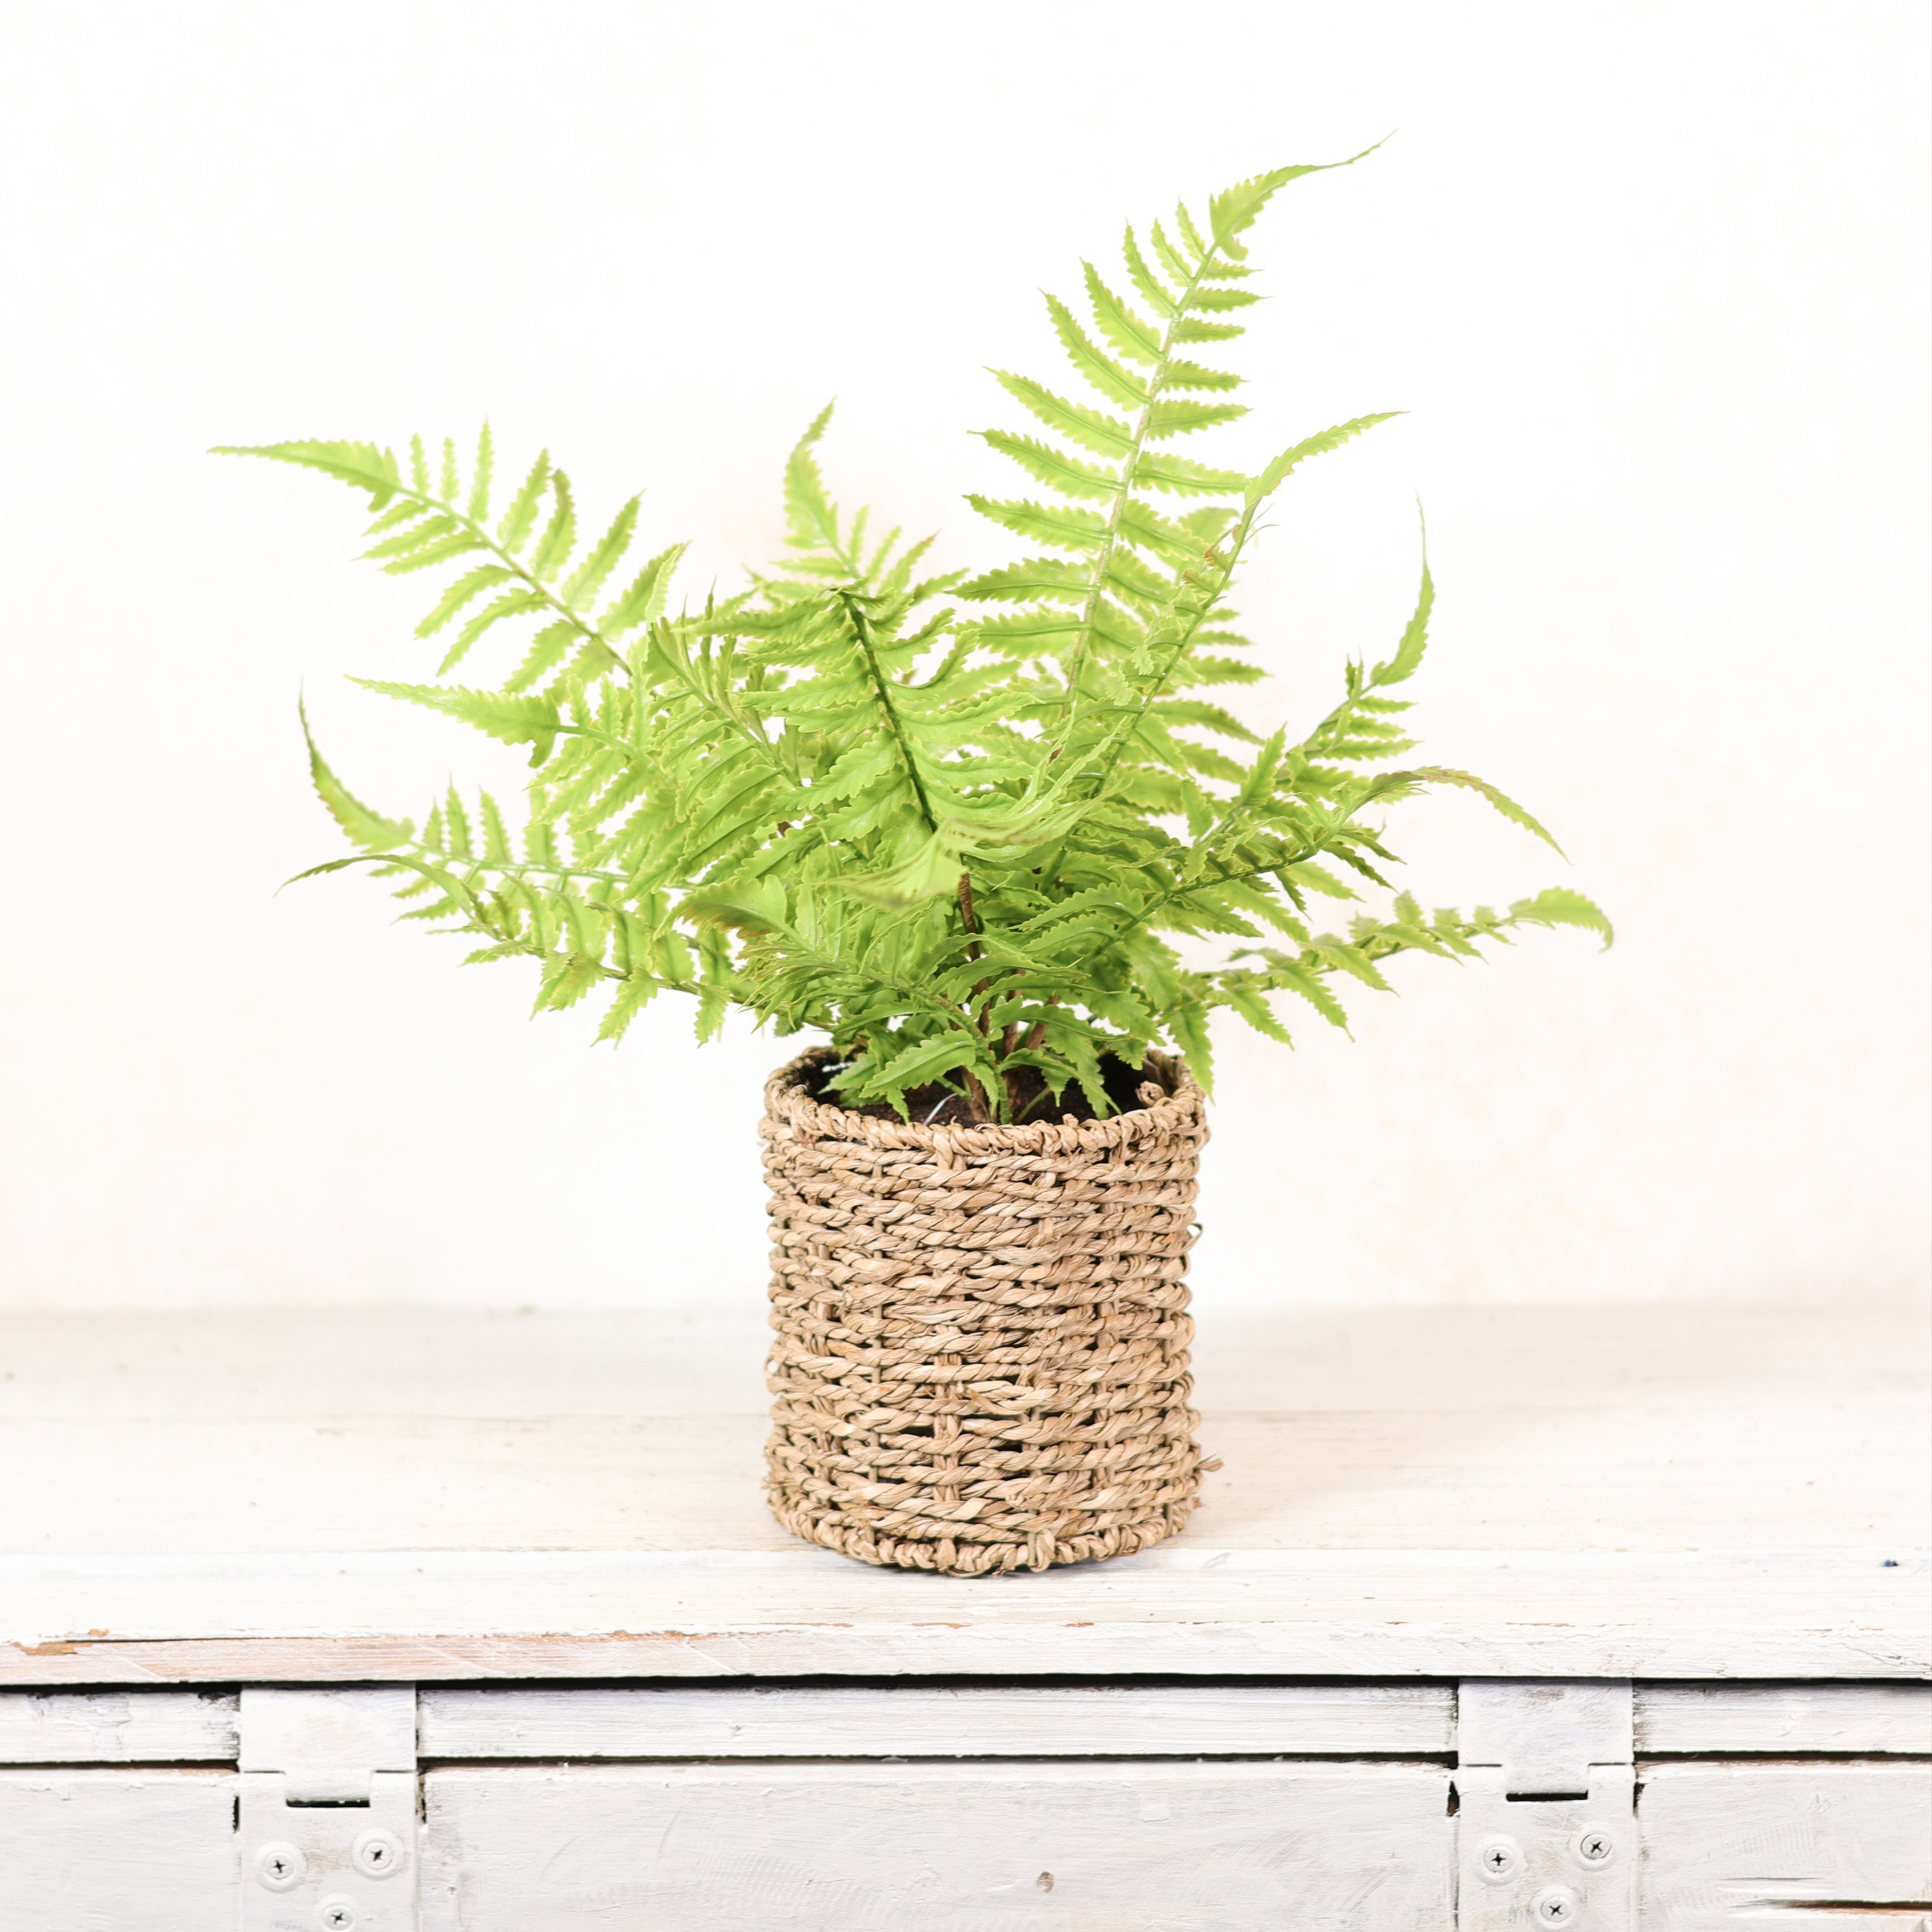
M 234 1803 L 234 1772 L 0 1772 L 0 1932 L 222 1932 Z

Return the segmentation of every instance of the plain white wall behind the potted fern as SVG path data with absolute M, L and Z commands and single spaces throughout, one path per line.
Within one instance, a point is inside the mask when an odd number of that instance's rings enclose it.
M 721 1298 L 761 1289 L 786 1045 L 616 1055 L 524 1018 L 332 856 L 296 690 L 415 815 L 469 736 L 425 595 L 332 485 L 211 442 L 549 442 L 645 485 L 696 582 L 777 541 L 838 394 L 848 498 L 1005 541 L 981 373 L 1122 216 L 1399 129 L 1258 230 L 1240 460 L 1308 471 L 1246 609 L 1312 719 L 1441 582 L 1408 808 L 1428 902 L 1577 883 L 1410 962 L 1356 1041 L 1231 1024 L 1213 1302 L 1830 1300 L 1920 1281 L 1924 12 L 1917 0 L 1314 6 L 158 0 L 6 10 L 0 1298 Z M 1252 431 L 1252 433 L 1250 433 Z

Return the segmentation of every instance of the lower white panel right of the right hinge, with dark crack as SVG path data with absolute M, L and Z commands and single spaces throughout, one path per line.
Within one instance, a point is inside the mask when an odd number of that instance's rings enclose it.
M 1642 1932 L 1932 1922 L 1928 1764 L 1663 1764 L 1636 1816 Z

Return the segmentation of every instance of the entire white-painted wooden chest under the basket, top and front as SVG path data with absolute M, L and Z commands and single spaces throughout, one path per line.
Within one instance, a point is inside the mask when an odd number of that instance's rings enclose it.
M 1932 1924 L 1922 1318 L 1209 1314 L 1188 1534 L 974 1580 L 761 1347 L 0 1320 L 0 1932 Z

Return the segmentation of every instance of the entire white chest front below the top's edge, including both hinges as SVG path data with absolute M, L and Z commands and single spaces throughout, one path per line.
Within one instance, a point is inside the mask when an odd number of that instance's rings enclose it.
M 0 1932 L 230 1924 L 236 1886 L 243 1922 L 280 1932 L 276 1899 L 238 1876 L 238 1791 L 242 1851 L 299 1839 L 313 1868 L 290 1897 L 361 1884 L 371 1928 L 410 1897 L 348 1870 L 371 1820 L 412 1884 L 421 1866 L 433 1928 L 1412 1932 L 1449 1926 L 1453 1874 L 1464 1928 L 1519 1924 L 1548 1884 L 1596 1924 L 1633 1880 L 1644 1932 L 1932 1913 L 1924 1685 L 431 1687 L 419 1704 L 247 1689 L 240 1783 L 0 1774 Z M 0 1748 L 228 1754 L 236 1719 L 234 1698 L 180 1690 L 4 1692 Z M 1629 1764 L 1611 1762 L 1633 1735 L 1650 1752 L 1634 1824 Z M 1897 1756 L 1656 1756 L 1669 1748 Z M 595 1762 L 676 1756 L 699 1762 Z M 881 1762 L 902 1758 L 922 1762 Z M 251 1816 L 251 1783 L 323 1808 Z M 1609 1830 L 1609 1864 L 1577 1862 L 1586 1828 Z M 1497 1835 L 1520 1847 L 1501 1889 L 1476 1878 Z

